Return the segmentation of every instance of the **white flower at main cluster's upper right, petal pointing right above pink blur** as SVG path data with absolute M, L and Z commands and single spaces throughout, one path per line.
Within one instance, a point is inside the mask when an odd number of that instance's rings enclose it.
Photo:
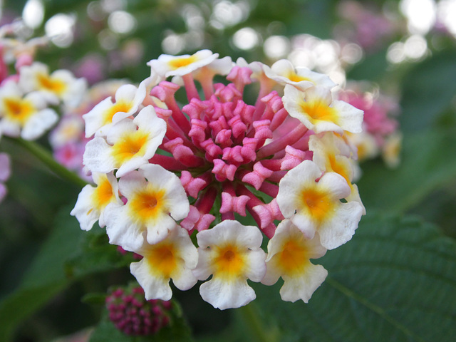
M 363 110 L 344 101 L 334 100 L 330 90 L 315 86 L 301 91 L 290 84 L 284 88 L 284 108 L 315 133 L 333 131 L 360 133 Z

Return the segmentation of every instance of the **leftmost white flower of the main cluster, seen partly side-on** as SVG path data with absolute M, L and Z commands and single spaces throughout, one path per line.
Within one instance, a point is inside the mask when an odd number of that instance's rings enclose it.
M 98 220 L 104 227 L 104 209 L 110 203 L 122 204 L 118 195 L 118 183 L 112 173 L 93 173 L 96 187 L 86 185 L 78 195 L 78 200 L 70 214 L 78 219 L 81 229 L 90 230 Z

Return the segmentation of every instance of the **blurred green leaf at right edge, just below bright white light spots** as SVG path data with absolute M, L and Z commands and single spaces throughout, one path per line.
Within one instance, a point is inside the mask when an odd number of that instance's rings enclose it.
M 400 125 L 414 132 L 434 125 L 456 94 L 456 50 L 447 49 L 411 68 L 403 79 Z

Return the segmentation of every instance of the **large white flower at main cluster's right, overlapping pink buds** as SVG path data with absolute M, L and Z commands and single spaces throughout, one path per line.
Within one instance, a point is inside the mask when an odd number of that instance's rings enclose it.
M 284 217 L 308 239 L 318 232 L 323 247 L 334 249 L 351 239 L 363 214 L 358 202 L 340 201 L 350 194 L 341 175 L 322 175 L 314 162 L 304 160 L 281 179 L 276 200 Z

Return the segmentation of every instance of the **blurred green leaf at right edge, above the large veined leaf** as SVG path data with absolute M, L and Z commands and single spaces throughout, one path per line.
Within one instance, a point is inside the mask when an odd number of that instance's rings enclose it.
M 401 162 L 388 169 L 380 160 L 362 165 L 358 181 L 366 207 L 403 212 L 456 177 L 456 135 L 432 130 L 405 135 Z

